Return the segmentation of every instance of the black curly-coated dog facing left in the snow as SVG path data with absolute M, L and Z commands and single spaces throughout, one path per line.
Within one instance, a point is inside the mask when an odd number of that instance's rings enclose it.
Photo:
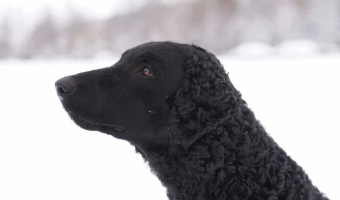
M 170 200 L 327 200 L 198 46 L 142 44 L 55 86 L 77 125 L 133 144 Z

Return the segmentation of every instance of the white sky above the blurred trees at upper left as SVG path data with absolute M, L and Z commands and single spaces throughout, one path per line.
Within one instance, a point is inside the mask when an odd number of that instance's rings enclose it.
M 14 46 L 20 45 L 49 10 L 56 22 L 67 22 L 73 14 L 87 19 L 106 19 L 141 7 L 147 0 L 0 0 L 0 23 L 9 22 Z M 176 0 L 165 0 L 175 2 Z M 73 12 L 70 12 L 73 11 Z

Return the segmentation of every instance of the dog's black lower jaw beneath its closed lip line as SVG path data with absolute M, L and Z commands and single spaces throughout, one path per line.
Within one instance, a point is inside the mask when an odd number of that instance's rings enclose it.
M 92 122 L 90 120 L 85 119 L 84 117 L 81 117 L 79 114 L 76 114 L 73 111 L 68 111 L 66 110 L 67 113 L 70 115 L 70 117 L 82 128 L 86 129 L 86 130 L 98 130 L 98 131 L 102 131 L 102 130 L 107 130 L 107 129 L 113 129 L 116 132 L 124 132 L 125 128 L 119 125 L 112 125 L 112 124 L 107 124 L 107 123 L 98 123 L 98 122 Z

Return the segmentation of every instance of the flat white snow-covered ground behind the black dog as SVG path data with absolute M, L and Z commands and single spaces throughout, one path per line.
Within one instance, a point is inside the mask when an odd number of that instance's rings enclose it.
M 340 55 L 219 57 L 277 143 L 340 199 Z M 166 200 L 127 142 L 77 127 L 54 82 L 116 60 L 0 61 L 1 200 Z

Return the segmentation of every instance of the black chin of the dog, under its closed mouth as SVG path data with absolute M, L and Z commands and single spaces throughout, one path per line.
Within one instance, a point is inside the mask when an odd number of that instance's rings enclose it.
M 66 110 L 66 109 L 65 109 Z M 110 124 L 101 124 L 101 123 L 94 123 L 90 120 L 81 117 L 79 114 L 75 112 L 66 110 L 69 114 L 70 118 L 82 129 L 88 131 L 99 131 L 102 133 L 110 134 L 114 137 L 121 138 L 122 134 L 126 132 L 125 128 L 118 125 L 110 125 Z

